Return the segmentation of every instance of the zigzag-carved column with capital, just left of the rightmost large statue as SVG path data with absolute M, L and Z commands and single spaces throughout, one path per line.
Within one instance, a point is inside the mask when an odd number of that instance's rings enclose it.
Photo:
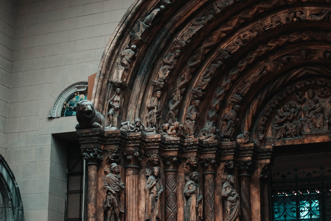
M 203 159 L 204 169 L 204 217 L 205 221 L 215 221 L 215 164 L 214 158 Z

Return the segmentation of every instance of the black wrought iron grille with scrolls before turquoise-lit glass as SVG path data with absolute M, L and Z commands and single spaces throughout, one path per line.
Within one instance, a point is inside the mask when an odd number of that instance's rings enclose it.
M 273 221 L 331 221 L 331 170 L 272 175 Z

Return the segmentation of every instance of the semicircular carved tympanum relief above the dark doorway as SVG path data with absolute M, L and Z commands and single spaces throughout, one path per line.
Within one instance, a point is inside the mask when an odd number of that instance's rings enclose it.
M 292 100 L 277 109 L 267 139 L 329 134 L 330 96 L 327 85 L 294 93 Z

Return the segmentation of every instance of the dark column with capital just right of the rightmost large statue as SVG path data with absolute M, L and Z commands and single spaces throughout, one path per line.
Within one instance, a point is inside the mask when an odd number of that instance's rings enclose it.
M 238 170 L 240 177 L 240 201 L 242 220 L 251 221 L 251 191 L 250 191 L 250 179 L 251 173 L 255 169 L 255 165 L 252 161 L 239 161 Z

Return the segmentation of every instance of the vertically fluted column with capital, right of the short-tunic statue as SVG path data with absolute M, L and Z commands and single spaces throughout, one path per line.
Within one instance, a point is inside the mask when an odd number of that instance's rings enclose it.
M 138 163 L 142 160 L 138 151 L 124 152 L 125 165 L 125 220 L 138 221 Z

